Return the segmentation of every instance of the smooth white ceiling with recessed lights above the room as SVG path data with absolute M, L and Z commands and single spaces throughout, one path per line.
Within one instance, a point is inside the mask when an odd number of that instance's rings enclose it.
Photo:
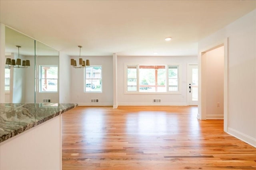
M 254 9 L 254 0 L 0 0 L 0 22 L 68 55 L 82 45 L 83 56 L 196 56 L 198 40 Z

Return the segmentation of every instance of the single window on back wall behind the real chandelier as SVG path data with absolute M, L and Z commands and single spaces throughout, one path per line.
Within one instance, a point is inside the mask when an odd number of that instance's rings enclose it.
M 84 70 L 84 92 L 102 92 L 102 66 L 88 66 Z

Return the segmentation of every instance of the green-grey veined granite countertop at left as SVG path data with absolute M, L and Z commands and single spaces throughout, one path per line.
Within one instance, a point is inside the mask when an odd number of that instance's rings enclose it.
M 0 104 L 0 143 L 56 117 L 77 104 Z

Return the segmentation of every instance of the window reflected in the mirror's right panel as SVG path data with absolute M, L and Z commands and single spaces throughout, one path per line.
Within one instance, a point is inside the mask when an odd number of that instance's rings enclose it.
M 40 92 L 58 92 L 58 66 L 40 66 Z

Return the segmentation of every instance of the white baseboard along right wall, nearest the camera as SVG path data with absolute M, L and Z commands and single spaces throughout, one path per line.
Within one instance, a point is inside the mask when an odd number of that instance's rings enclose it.
M 256 139 L 254 139 L 253 137 L 245 135 L 244 133 L 236 131 L 235 129 L 232 129 L 230 127 L 228 127 L 227 133 L 256 148 Z

